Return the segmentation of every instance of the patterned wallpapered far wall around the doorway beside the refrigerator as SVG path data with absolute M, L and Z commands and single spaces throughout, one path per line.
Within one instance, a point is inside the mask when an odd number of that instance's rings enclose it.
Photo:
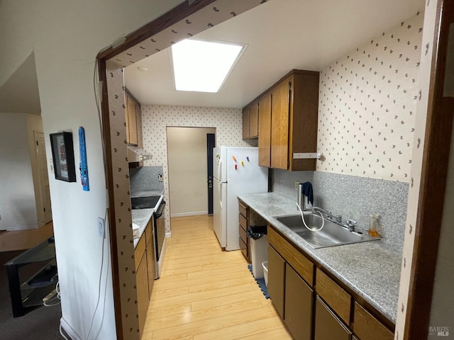
M 153 154 L 144 166 L 162 165 L 164 199 L 169 199 L 167 126 L 216 128 L 216 146 L 256 147 L 257 140 L 243 141 L 243 113 L 239 108 L 142 105 L 143 148 Z M 249 144 L 248 144 L 249 143 Z M 165 207 L 165 229 L 170 232 L 170 207 Z

